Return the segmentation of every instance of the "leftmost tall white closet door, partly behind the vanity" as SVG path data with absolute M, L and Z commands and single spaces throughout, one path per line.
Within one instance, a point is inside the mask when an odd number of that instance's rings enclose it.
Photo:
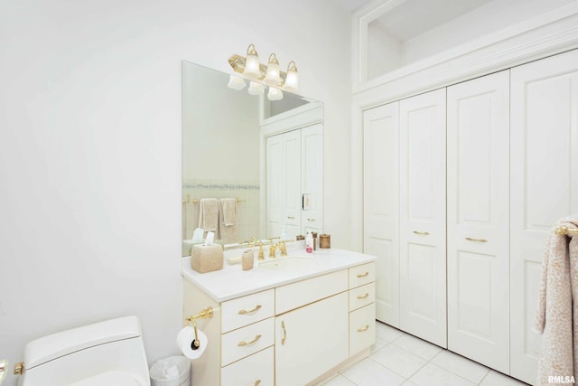
M 363 251 L 376 256 L 376 317 L 399 328 L 399 102 L 363 113 Z

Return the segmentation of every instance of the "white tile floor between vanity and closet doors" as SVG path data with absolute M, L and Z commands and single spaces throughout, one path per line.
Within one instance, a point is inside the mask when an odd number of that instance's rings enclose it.
M 376 322 L 371 355 L 324 386 L 527 386 L 458 354 Z

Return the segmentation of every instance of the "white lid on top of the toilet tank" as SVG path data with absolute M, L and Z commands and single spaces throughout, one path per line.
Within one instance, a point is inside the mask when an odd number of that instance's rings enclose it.
M 136 316 L 124 316 L 93 325 L 83 325 L 36 339 L 24 347 L 25 369 L 56 358 L 123 339 L 141 335 L 141 326 Z

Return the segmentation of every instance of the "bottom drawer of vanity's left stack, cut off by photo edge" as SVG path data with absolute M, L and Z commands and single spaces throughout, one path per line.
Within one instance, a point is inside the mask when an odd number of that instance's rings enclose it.
M 273 386 L 275 381 L 274 353 L 273 347 L 269 347 L 241 361 L 223 367 L 220 371 L 221 386 L 253 386 L 256 384 L 259 386 Z

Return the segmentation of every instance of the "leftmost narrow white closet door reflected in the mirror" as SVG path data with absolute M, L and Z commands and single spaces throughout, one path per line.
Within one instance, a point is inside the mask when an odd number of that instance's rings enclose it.
M 283 229 L 283 136 L 266 138 L 266 235 Z M 263 236 L 266 236 L 263 235 Z

